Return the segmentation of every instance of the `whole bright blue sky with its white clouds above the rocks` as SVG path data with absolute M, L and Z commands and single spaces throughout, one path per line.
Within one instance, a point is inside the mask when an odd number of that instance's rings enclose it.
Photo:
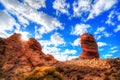
M 95 37 L 101 58 L 120 57 L 120 1 L 0 0 L 0 36 L 14 32 L 36 38 L 61 61 L 82 53 L 83 33 Z

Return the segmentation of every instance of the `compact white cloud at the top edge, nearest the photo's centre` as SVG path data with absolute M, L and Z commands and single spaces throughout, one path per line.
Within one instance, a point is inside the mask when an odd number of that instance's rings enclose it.
M 68 15 L 68 9 L 70 8 L 70 5 L 66 2 L 66 0 L 55 0 L 53 2 L 53 8 L 56 9 L 57 14 L 61 12 Z

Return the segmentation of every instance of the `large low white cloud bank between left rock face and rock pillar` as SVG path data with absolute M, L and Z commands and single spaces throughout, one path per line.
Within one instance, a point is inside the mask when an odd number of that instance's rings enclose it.
M 52 34 L 50 36 L 50 40 L 40 40 L 40 43 L 43 47 L 43 52 L 52 54 L 57 60 L 65 61 L 76 57 L 74 56 L 77 53 L 76 50 L 62 49 L 63 46 L 61 45 L 65 45 L 66 42 L 59 33 Z

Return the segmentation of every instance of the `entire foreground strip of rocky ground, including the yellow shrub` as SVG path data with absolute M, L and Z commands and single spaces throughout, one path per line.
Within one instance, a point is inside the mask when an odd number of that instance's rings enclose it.
M 34 67 L 29 72 L 19 74 L 9 79 L 9 75 L 0 70 L 0 80 L 120 80 L 120 58 L 77 58 L 57 62 L 53 66 Z

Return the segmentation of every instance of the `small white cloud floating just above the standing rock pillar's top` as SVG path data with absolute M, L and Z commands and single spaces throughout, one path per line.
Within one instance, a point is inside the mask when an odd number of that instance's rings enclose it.
M 71 34 L 72 35 L 82 35 L 83 33 L 88 32 L 88 28 L 91 26 L 88 24 L 76 24 L 75 28 L 72 29 Z

